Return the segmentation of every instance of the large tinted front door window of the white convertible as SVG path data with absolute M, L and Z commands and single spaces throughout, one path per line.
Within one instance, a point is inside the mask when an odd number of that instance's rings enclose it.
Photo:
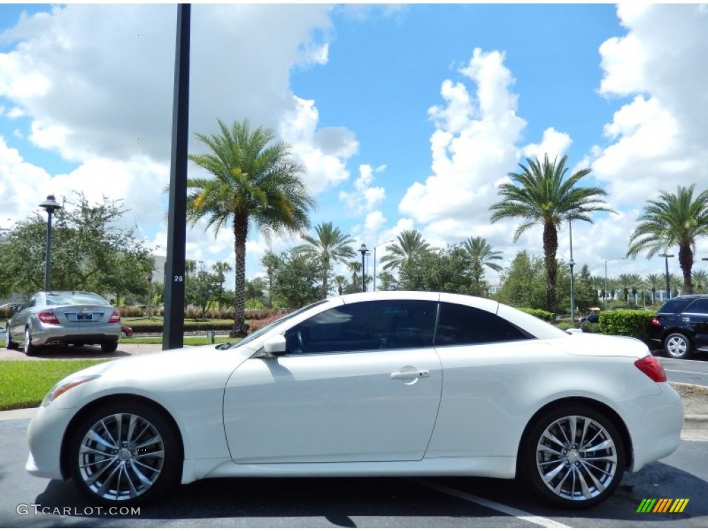
M 434 301 L 407 300 L 344 304 L 287 331 L 287 353 L 430 347 L 437 306 Z

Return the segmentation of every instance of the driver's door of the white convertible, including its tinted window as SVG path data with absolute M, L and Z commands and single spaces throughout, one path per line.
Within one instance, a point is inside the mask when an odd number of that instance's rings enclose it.
M 440 404 L 435 301 L 327 309 L 285 333 L 287 353 L 252 358 L 224 392 L 239 463 L 422 459 Z

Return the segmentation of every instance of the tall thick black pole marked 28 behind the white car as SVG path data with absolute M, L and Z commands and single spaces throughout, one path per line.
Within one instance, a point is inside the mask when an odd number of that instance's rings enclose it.
M 165 264 L 162 350 L 184 346 L 184 263 L 187 239 L 187 146 L 189 130 L 189 35 L 191 4 L 177 6 L 172 153 Z

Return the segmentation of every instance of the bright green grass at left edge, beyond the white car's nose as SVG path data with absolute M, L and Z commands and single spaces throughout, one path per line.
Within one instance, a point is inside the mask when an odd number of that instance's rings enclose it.
M 0 411 L 35 407 L 64 376 L 105 360 L 0 361 Z

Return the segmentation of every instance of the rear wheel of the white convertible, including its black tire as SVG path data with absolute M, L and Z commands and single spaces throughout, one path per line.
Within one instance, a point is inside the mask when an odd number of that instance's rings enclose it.
M 610 418 L 588 406 L 567 404 L 532 422 L 519 455 L 520 475 L 532 491 L 564 508 L 592 507 L 612 495 L 622 481 L 625 453 Z

